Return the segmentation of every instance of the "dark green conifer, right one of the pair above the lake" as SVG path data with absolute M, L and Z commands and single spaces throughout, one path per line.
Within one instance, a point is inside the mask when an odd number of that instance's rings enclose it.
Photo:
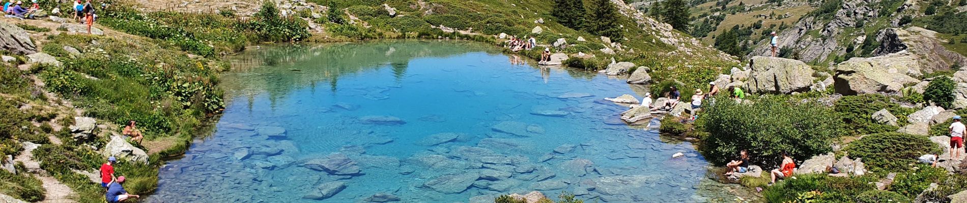
M 673 1 L 684 2 L 684 0 Z M 592 0 L 591 2 L 591 11 L 587 14 L 588 21 L 585 22 L 584 28 L 588 33 L 621 41 L 625 35 L 618 23 L 620 19 L 618 9 L 614 7 L 611 0 Z

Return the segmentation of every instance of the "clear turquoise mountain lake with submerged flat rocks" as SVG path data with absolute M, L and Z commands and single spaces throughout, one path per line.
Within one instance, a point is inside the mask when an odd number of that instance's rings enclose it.
M 312 202 L 333 185 L 321 201 L 695 201 L 707 164 L 691 144 L 624 125 L 627 108 L 602 99 L 642 89 L 510 59 L 452 41 L 247 51 L 222 77 L 216 132 L 161 168 L 149 202 Z

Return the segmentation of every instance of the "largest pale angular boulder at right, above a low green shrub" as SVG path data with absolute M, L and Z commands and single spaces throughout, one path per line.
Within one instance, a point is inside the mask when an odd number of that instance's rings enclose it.
M 852 58 L 835 66 L 835 91 L 843 95 L 896 94 L 905 84 L 920 83 L 917 57 L 905 51 L 872 58 Z

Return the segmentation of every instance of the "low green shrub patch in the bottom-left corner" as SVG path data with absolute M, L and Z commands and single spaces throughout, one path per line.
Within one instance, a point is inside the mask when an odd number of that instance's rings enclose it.
M 15 175 L 7 170 L 0 170 L 0 193 L 28 202 L 37 202 L 44 200 L 46 190 L 41 180 L 33 175 Z

